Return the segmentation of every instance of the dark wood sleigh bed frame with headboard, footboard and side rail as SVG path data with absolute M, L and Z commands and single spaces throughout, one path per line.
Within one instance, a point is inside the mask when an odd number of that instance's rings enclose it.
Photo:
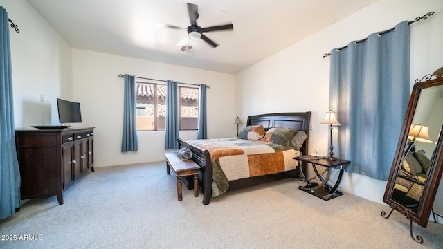
M 262 124 L 264 129 L 267 131 L 269 128 L 280 127 L 280 128 L 291 128 L 298 131 L 305 131 L 309 136 L 309 120 L 311 119 L 311 112 L 307 111 L 304 113 L 270 113 L 255 116 L 248 116 L 248 121 L 246 125 L 257 125 Z M 212 197 L 212 176 L 213 168 L 211 165 L 210 155 L 206 149 L 201 149 L 193 145 L 188 144 L 188 142 L 179 140 L 179 149 L 186 147 L 192 151 L 192 160 L 197 163 L 201 169 L 199 174 L 199 188 L 203 193 L 203 204 L 208 205 Z M 305 140 L 302 148 L 300 149 L 301 154 L 308 154 L 308 140 Z M 306 165 L 301 165 L 301 167 L 306 167 Z M 228 190 L 236 190 L 242 187 L 248 187 L 252 185 L 257 185 L 260 183 L 268 183 L 270 181 L 276 181 L 288 177 L 298 177 L 299 167 L 297 169 L 291 170 L 289 172 L 282 172 L 278 174 L 270 174 L 266 176 L 255 176 L 251 178 L 244 178 L 235 181 L 229 181 Z M 306 169 L 303 169 L 306 170 Z M 306 171 L 305 171 L 306 172 Z

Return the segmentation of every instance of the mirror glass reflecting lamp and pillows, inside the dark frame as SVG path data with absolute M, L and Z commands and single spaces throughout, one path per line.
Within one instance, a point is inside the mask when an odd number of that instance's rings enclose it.
M 443 86 L 422 89 L 392 199 L 417 213 L 443 124 Z

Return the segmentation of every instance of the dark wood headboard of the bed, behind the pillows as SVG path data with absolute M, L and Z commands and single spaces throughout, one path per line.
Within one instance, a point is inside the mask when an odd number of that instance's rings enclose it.
M 255 116 L 248 116 L 246 125 L 260 125 L 262 124 L 264 130 L 269 128 L 290 128 L 298 131 L 305 131 L 309 137 L 309 121 L 311 120 L 311 111 L 304 113 L 269 113 Z M 300 152 L 308 154 L 308 140 L 305 140 Z

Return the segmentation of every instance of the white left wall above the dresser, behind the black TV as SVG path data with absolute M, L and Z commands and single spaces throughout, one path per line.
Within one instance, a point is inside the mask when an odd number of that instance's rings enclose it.
M 20 30 L 10 28 L 15 127 L 58 124 L 56 98 L 72 98 L 71 46 L 27 1 L 0 6 Z

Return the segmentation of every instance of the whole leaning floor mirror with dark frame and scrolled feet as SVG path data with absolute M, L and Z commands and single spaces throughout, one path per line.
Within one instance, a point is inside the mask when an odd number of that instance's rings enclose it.
M 382 211 L 388 219 L 394 210 L 410 219 L 410 236 L 423 243 L 423 238 L 413 235 L 413 222 L 426 228 L 433 211 L 443 171 L 443 67 L 433 74 L 416 80 L 392 168 L 383 196 L 383 202 L 392 210 Z

